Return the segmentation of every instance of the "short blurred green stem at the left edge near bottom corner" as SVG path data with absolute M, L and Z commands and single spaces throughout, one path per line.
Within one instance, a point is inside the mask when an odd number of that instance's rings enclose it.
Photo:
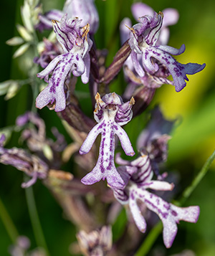
M 9 237 L 11 238 L 11 241 L 16 244 L 16 238 L 19 237 L 19 233 L 14 226 L 14 223 L 9 216 L 9 213 L 6 211 L 6 208 L 4 207 L 3 202 L 1 202 L 0 199 L 0 217 L 4 224 L 4 227 L 6 228 L 7 233 L 9 234 Z

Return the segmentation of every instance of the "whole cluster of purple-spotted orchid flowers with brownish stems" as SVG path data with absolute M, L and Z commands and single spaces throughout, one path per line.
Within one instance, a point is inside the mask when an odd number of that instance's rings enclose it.
M 168 26 L 178 22 L 178 11 L 164 9 L 156 13 L 143 3 L 133 4 L 132 13 L 138 23 L 132 27 L 130 19 L 123 19 L 120 24 L 123 46 L 106 68 L 107 51 L 97 49 L 93 38 L 99 23 L 94 0 L 67 0 L 62 11 L 51 10 L 45 14 L 42 14 L 38 0 L 25 0 L 24 6 L 22 16 L 27 15 L 28 9 L 31 15 L 28 19 L 23 17 L 24 27 L 19 27 L 22 38 L 11 39 L 9 44 L 26 42 L 24 49 L 34 47 L 32 52 L 38 50 L 38 56 L 32 57 L 34 68 L 30 69 L 29 80 L 1 83 L 0 94 L 10 98 L 21 84 L 29 83 L 35 95 L 39 89 L 37 77 L 44 79 L 47 86 L 35 97 L 36 107 L 51 106 L 49 109 L 57 112 L 73 142 L 67 145 L 57 128 L 52 129 L 57 140 L 47 138 L 45 123 L 32 105 L 32 112 L 20 115 L 11 128 L 16 132 L 22 131 L 20 141 L 27 144 L 27 149 L 5 148 L 5 136 L 2 135 L 0 162 L 14 166 L 32 178 L 22 184 L 23 188 L 32 186 L 37 178 L 43 180 L 68 219 L 77 224 L 80 230 L 77 240 L 84 255 L 123 255 L 119 242 L 112 247 L 111 228 L 105 226 L 113 224 L 120 212 L 120 204 L 129 205 L 130 215 L 140 232 L 146 230 L 148 219 L 145 212 L 155 212 L 163 222 L 164 244 L 167 248 L 171 247 L 178 222 L 196 222 L 199 218 L 198 206 L 178 207 L 156 194 L 156 191 L 172 191 L 174 187 L 165 181 L 167 173 L 161 174 L 161 167 L 168 156 L 168 140 L 174 121 L 165 120 L 160 108 L 156 107 L 151 112 L 151 120 L 138 136 L 136 148 L 140 156 L 128 161 L 121 158 L 120 153 L 115 154 L 115 149 L 121 144 L 125 154 L 133 157 L 135 151 L 122 126 L 143 113 L 151 103 L 156 88 L 167 83 L 180 92 L 186 86 L 187 75 L 194 75 L 205 67 L 205 64 L 181 64 L 175 60 L 172 55 L 182 54 L 184 44 L 180 49 L 166 45 Z M 52 27 L 54 33 L 36 47 L 34 41 L 37 42 L 38 38 L 35 29 L 43 32 Z M 24 49 L 19 49 L 16 55 L 19 56 L 20 51 L 24 53 Z M 44 69 L 41 72 L 39 65 Z M 123 88 L 122 97 L 110 93 L 109 87 L 121 68 L 128 83 Z M 89 82 L 86 94 L 77 91 L 77 77 L 83 84 Z M 16 89 L 9 92 L 13 84 Z M 85 115 L 87 100 L 80 100 L 85 95 L 91 97 L 92 106 L 95 105 L 95 120 Z M 100 146 L 96 143 L 99 135 Z M 72 155 L 77 166 L 74 176 L 61 171 L 62 163 L 67 163 Z M 85 186 L 101 180 L 106 180 L 108 186 L 105 182 Z M 96 200 L 90 196 L 84 198 L 87 193 Z M 97 207 L 99 201 L 101 203 Z M 124 242 L 126 249 L 129 248 L 129 253 L 125 255 L 133 255 L 142 239 L 140 232 L 130 232 L 137 229 L 133 220 L 128 219 L 128 229 L 119 240 Z M 125 245 L 128 240 L 131 242 Z M 22 248 L 18 241 L 14 254 L 16 250 L 25 251 L 27 248 Z

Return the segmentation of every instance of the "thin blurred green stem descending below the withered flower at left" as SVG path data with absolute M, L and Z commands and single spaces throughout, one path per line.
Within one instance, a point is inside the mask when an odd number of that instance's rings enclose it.
M 47 251 L 47 256 L 49 256 L 49 251 L 47 248 L 47 243 L 44 239 L 44 234 L 42 232 L 42 227 L 39 222 L 39 216 L 37 213 L 37 207 L 34 201 L 34 192 L 32 187 L 30 186 L 29 188 L 25 189 L 26 191 L 26 197 L 27 197 L 27 206 L 29 209 L 29 216 L 32 222 L 32 227 L 34 231 L 34 237 L 37 242 L 37 246 L 43 247 L 44 250 Z

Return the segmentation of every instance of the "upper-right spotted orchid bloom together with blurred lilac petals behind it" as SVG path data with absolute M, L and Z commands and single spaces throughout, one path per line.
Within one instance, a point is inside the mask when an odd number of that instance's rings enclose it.
M 124 65 L 125 77 L 129 85 L 125 96 L 132 95 L 137 85 L 150 88 L 161 87 L 163 84 L 171 84 L 179 92 L 186 86 L 188 77 L 204 69 L 204 65 L 188 63 L 183 65 L 171 56 L 184 52 L 185 46 L 180 49 L 169 47 L 168 26 L 178 22 L 178 11 L 176 9 L 164 9 L 156 14 L 150 6 L 143 3 L 135 3 L 131 7 L 134 18 L 138 24 L 131 27 L 130 19 L 125 18 L 120 24 L 122 42 L 129 39 L 132 49 L 128 60 Z M 169 76 L 173 81 L 169 80 Z

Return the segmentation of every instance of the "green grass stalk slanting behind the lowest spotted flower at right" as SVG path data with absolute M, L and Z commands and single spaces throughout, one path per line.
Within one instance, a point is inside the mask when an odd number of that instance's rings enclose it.
M 189 196 L 193 193 L 194 189 L 196 189 L 196 186 L 199 185 L 200 181 L 204 178 L 207 171 L 209 171 L 209 168 L 211 166 L 211 163 L 215 159 L 215 150 L 209 156 L 207 161 L 204 163 L 204 166 L 201 168 L 201 171 L 199 171 L 199 174 L 196 176 L 194 181 L 191 183 L 191 186 L 188 186 L 181 196 L 181 199 L 176 202 L 177 205 L 183 205 L 184 202 L 188 199 Z M 162 231 L 162 223 L 158 222 L 153 229 L 151 229 L 151 232 L 148 234 L 148 236 L 145 238 L 143 244 L 140 246 L 138 252 L 136 252 L 135 256 L 145 256 L 148 255 L 148 252 L 151 250 L 151 247 L 153 246 L 154 242 L 158 238 L 158 235 L 161 234 Z

